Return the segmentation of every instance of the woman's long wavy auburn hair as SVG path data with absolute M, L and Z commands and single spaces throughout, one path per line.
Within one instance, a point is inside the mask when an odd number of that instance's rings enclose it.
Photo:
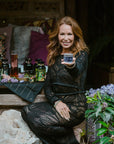
M 48 66 L 51 66 L 55 63 L 55 59 L 58 55 L 61 55 L 62 53 L 62 47 L 59 44 L 58 40 L 58 34 L 59 34 L 59 27 L 62 24 L 67 24 L 72 27 L 72 31 L 74 34 L 74 43 L 72 47 L 70 48 L 70 51 L 75 56 L 78 52 L 85 50 L 88 52 L 88 48 L 84 42 L 83 34 L 80 26 L 78 25 L 77 21 L 69 16 L 65 16 L 61 18 L 57 23 L 52 31 L 52 33 L 49 35 L 49 45 L 47 46 L 48 49 L 48 56 L 47 56 L 47 63 Z

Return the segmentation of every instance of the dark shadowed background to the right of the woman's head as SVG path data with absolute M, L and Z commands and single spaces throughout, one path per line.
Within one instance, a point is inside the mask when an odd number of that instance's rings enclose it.
M 90 49 L 87 88 L 114 83 L 114 1 L 65 0 L 65 15 L 78 21 Z

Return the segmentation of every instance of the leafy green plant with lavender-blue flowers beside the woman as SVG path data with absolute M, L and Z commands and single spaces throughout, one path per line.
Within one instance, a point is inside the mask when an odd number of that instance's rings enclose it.
M 114 144 L 114 84 L 91 88 L 86 92 L 88 109 L 85 112 L 91 125 L 99 125 L 93 143 Z

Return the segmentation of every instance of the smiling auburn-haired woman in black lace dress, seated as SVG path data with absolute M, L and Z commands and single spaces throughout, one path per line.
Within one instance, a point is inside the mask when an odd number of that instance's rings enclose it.
M 88 48 L 79 25 L 68 16 L 58 21 L 49 40 L 44 86 L 48 101 L 25 106 L 22 117 L 43 144 L 78 144 L 73 127 L 84 120 Z M 64 53 L 73 54 L 70 64 L 63 60 Z

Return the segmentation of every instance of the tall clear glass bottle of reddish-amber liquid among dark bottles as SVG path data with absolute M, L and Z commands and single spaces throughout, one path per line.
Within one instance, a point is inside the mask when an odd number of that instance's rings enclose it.
M 17 54 L 11 55 L 11 77 L 18 77 L 18 56 Z

